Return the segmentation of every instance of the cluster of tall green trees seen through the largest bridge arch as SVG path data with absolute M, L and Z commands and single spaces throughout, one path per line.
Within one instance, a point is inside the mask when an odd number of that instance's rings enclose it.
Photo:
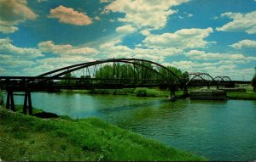
M 175 67 L 167 66 L 168 70 L 171 70 L 177 75 L 184 83 L 189 81 L 189 73 L 182 72 Z M 116 83 L 136 83 L 142 84 L 146 81 L 155 81 L 160 83 L 160 75 L 164 81 L 176 86 L 180 84 L 175 75 L 172 75 L 168 70 L 163 68 L 154 68 L 152 64 L 136 62 L 136 64 L 106 64 L 99 70 L 96 70 L 95 78 L 98 79 L 98 83 L 110 83 L 112 79 L 118 79 Z

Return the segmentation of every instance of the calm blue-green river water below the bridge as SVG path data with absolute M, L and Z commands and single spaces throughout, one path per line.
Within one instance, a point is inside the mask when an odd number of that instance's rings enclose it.
M 23 98 L 15 96 L 15 103 Z M 32 93 L 33 107 L 72 118 L 100 117 L 210 160 L 256 159 L 256 101 Z

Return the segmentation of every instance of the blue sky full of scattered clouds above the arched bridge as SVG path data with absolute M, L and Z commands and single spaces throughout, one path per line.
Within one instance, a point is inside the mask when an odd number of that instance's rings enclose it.
M 113 58 L 250 81 L 256 0 L 0 0 L 0 75 Z

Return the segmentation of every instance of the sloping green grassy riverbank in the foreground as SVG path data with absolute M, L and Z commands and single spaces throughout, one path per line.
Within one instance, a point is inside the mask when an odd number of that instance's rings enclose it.
M 39 119 L 0 109 L 0 159 L 204 160 L 96 118 Z

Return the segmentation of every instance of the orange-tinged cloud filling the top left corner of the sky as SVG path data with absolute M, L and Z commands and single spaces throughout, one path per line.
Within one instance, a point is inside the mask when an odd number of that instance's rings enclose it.
M 14 33 L 19 29 L 16 25 L 38 17 L 26 6 L 26 0 L 1 0 L 0 9 L 0 32 L 3 33 Z

